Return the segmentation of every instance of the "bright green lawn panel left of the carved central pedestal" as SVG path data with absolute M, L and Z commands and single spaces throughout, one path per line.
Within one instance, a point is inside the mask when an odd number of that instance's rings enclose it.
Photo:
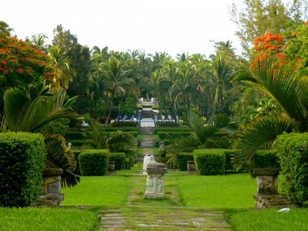
M 62 205 L 125 205 L 129 195 L 125 177 L 81 177 L 72 188 L 62 189 Z

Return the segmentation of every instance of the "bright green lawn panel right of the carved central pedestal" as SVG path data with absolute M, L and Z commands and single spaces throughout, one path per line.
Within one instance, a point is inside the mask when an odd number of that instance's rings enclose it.
M 216 208 L 255 207 L 256 179 L 249 174 L 177 177 L 184 206 Z

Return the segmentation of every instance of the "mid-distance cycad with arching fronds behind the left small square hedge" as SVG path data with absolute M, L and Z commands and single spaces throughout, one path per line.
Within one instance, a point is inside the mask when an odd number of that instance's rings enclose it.
M 123 131 L 106 132 L 89 114 L 84 115 L 85 122 L 91 130 L 84 130 L 87 139 L 85 149 L 108 149 L 111 152 L 125 152 L 132 161 L 136 160 L 138 139 L 131 133 Z

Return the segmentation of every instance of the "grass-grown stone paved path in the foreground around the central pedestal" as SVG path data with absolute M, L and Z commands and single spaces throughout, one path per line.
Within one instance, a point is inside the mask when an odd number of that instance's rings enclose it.
M 184 207 L 172 179 L 164 199 L 144 199 L 145 176 L 131 178 L 127 206 L 105 206 L 100 230 L 231 230 L 219 208 Z

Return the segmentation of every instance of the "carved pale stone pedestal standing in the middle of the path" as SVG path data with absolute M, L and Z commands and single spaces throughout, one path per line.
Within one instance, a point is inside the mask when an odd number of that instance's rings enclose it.
M 163 163 L 149 163 L 146 167 L 147 180 L 145 198 L 164 198 L 164 175 L 167 166 Z

